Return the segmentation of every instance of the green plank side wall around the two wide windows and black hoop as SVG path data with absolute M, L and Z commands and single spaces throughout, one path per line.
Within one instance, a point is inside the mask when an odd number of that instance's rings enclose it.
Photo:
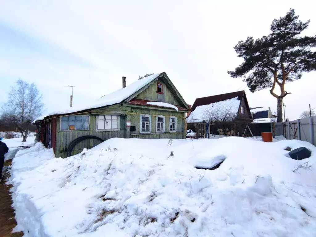
M 62 157 L 62 158 L 67 157 L 67 147 L 77 137 L 82 137 L 85 135 L 93 135 L 93 136 L 102 138 L 104 141 L 108 140 L 112 137 L 122 137 L 122 138 L 126 137 L 125 116 L 119 116 L 119 121 L 120 121 L 120 124 L 119 124 L 120 130 L 119 131 L 100 131 L 100 132 L 98 132 L 98 131 L 95 131 L 95 129 L 96 129 L 96 116 L 97 115 L 92 115 L 91 113 L 82 114 L 82 115 L 89 115 L 90 116 L 89 130 L 60 131 L 60 118 L 58 119 L 55 157 Z M 95 140 L 95 139 L 88 139 L 88 140 L 82 141 L 74 147 L 71 155 L 76 155 L 76 154 L 82 152 L 83 148 L 89 149 L 89 148 L 92 148 L 98 144 L 100 144 L 100 141 Z

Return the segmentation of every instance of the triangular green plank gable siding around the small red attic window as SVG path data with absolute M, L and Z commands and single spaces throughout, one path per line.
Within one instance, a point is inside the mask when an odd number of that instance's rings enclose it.
M 163 94 L 157 93 L 157 82 L 162 84 Z M 174 94 L 169 90 L 166 84 L 160 79 L 149 85 L 147 89 L 138 94 L 135 98 L 165 102 L 173 105 L 182 105 L 182 102 L 174 96 Z

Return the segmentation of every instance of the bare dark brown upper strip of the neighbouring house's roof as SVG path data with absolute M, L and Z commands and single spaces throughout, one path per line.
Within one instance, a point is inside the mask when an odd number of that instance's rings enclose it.
M 226 94 L 217 94 L 217 95 L 197 98 L 194 101 L 194 104 L 192 105 L 191 112 L 194 111 L 195 108 L 197 106 L 200 106 L 200 105 L 209 105 L 209 104 L 213 104 L 213 103 L 216 103 L 219 101 L 229 100 L 229 99 L 232 99 L 235 97 L 238 97 L 238 100 L 242 100 L 242 97 L 244 96 L 244 94 L 245 94 L 245 91 L 241 90 L 241 91 L 235 91 L 235 92 L 226 93 Z M 246 96 L 245 96 L 245 98 L 246 98 Z M 247 99 L 246 99 L 246 104 L 247 104 L 248 109 L 249 109 Z

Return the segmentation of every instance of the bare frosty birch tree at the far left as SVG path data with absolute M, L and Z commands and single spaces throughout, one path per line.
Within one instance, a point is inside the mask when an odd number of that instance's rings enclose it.
M 2 106 L 1 121 L 13 124 L 21 133 L 23 142 L 30 134 L 29 126 L 42 115 L 42 95 L 35 83 L 29 84 L 21 79 L 9 92 L 8 101 Z

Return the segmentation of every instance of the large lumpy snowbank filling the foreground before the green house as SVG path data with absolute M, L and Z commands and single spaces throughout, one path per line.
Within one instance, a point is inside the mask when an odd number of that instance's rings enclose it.
M 310 158 L 284 150 L 301 146 Z M 297 140 L 112 138 L 61 159 L 37 143 L 13 162 L 18 227 L 32 237 L 315 236 L 315 154 Z

